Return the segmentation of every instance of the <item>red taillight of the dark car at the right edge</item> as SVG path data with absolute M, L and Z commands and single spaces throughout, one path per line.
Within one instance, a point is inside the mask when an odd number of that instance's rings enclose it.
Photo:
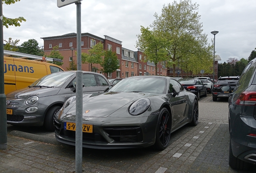
M 255 106 L 256 105 L 256 92 L 255 91 L 244 91 L 240 94 L 236 105 L 247 105 L 247 106 Z

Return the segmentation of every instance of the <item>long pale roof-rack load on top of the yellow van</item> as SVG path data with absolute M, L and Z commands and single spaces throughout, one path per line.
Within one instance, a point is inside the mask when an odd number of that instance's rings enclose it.
M 10 50 L 4 50 L 4 54 L 14 55 L 14 56 L 22 56 L 22 57 L 26 57 L 26 58 L 32 58 L 34 60 L 41 60 L 41 61 L 63 62 L 61 59 L 58 59 L 58 58 L 47 58 L 47 57 L 44 57 L 44 56 L 25 54 L 25 53 L 21 53 L 21 52 L 13 52 L 13 51 L 10 51 Z

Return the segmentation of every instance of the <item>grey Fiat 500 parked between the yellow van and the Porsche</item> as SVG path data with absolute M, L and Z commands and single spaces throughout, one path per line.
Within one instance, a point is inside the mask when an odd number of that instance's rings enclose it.
M 99 73 L 83 72 L 83 93 L 103 93 L 111 85 Z M 53 117 L 70 97 L 76 95 L 76 71 L 55 72 L 39 78 L 27 88 L 6 95 L 7 123 L 45 126 L 54 131 Z

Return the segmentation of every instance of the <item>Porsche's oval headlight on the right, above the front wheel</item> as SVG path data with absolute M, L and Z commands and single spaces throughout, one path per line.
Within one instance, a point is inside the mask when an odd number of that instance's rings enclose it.
M 150 107 L 150 100 L 148 98 L 138 99 L 129 108 L 131 115 L 140 115 L 147 111 Z

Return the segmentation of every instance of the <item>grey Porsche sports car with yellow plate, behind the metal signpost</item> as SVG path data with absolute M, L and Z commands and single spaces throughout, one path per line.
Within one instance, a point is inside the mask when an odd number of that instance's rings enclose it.
M 198 99 L 174 78 L 134 76 L 103 94 L 83 95 L 83 147 L 163 150 L 170 134 L 198 123 Z M 75 145 L 76 98 L 54 116 L 57 141 Z

